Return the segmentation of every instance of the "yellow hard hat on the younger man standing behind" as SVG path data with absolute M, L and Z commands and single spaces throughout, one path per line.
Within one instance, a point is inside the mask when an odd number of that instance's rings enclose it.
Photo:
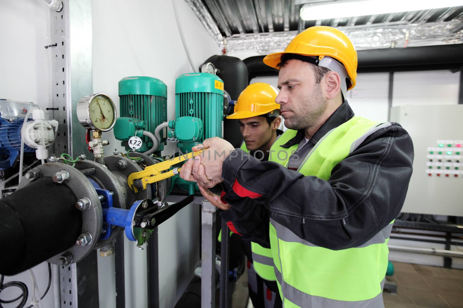
M 280 110 L 280 104 L 275 103 L 277 95 L 278 90 L 269 84 L 262 82 L 250 84 L 239 95 L 235 110 L 232 115 L 227 116 L 227 119 L 245 119 Z M 274 116 L 278 115 L 280 114 L 275 112 Z

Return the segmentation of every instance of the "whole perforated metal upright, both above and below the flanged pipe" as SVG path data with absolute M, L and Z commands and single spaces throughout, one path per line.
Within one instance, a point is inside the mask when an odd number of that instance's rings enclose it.
M 81 97 L 93 92 L 92 1 L 62 0 L 61 12 L 52 13 L 55 119 L 59 122 L 55 152 L 72 157 L 86 150 L 85 129 L 75 108 Z M 99 307 L 96 250 L 79 263 L 61 266 L 62 307 Z

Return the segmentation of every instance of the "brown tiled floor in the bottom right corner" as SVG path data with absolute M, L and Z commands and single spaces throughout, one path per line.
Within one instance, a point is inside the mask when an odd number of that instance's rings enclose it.
M 463 308 L 463 270 L 393 263 L 397 294 L 383 293 L 386 308 Z

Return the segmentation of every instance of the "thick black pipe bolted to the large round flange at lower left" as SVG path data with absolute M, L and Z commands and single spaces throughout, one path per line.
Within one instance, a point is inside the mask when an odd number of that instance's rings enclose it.
M 15 275 L 75 245 L 82 229 L 76 201 L 51 177 L 0 199 L 0 273 Z

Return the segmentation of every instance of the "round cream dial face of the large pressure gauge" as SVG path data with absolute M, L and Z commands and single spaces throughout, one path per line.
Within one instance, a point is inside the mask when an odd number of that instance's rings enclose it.
M 88 106 L 88 115 L 95 128 L 106 130 L 114 121 L 114 106 L 106 95 L 95 96 Z

